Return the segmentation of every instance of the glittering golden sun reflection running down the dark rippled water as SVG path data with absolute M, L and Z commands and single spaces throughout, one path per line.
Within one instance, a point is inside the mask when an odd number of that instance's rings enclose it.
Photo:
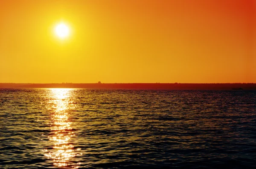
M 51 151 L 44 149 L 44 155 L 53 160 L 53 164 L 58 167 L 79 168 L 80 162 L 71 163 L 70 160 L 78 153 L 74 152 L 74 146 L 70 143 L 74 136 L 70 122 L 70 109 L 75 109 L 72 93 L 74 89 L 51 89 L 49 93 L 48 109 L 51 113 L 49 141 L 53 145 Z M 79 148 L 77 150 L 80 150 Z M 80 154 L 79 154 L 80 155 Z

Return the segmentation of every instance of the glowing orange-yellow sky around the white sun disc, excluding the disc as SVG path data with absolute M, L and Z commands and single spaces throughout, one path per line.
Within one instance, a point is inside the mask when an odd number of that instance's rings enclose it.
M 256 83 L 256 1 L 0 1 L 0 83 L 98 81 Z

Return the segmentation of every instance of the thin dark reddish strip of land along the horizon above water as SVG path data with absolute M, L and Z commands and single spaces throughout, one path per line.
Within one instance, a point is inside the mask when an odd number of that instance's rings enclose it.
M 90 89 L 256 89 L 256 83 L 0 83 L 0 88 L 90 88 Z

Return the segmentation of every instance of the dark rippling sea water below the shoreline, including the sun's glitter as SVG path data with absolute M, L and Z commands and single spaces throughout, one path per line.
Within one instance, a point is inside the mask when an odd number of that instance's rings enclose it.
M 255 168 L 256 91 L 0 89 L 0 168 Z

